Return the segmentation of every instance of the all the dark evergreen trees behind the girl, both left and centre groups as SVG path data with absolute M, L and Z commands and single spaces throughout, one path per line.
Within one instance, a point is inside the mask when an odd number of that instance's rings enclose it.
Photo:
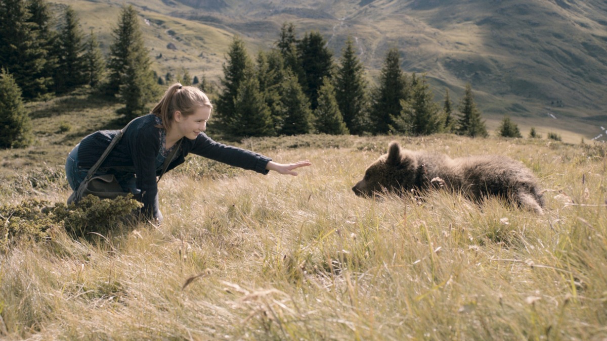
M 72 7 L 64 7 L 58 24 L 53 20 L 44 0 L 0 2 L 0 46 L 5 47 L 0 49 L 0 147 L 32 141 L 23 100 L 45 100 L 90 86 L 115 96 L 124 104 L 119 113 L 131 120 L 147 113 L 162 91 L 164 81 L 151 70 L 132 5 L 121 9 L 107 58 L 95 34 L 81 31 Z M 378 85 L 370 86 L 351 38 L 336 62 L 320 33 L 297 38 L 292 23 L 283 24 L 274 46 L 254 60 L 236 36 L 223 64 L 221 89 L 213 96 L 211 126 L 234 138 L 305 133 L 487 136 L 470 84 L 456 112 L 448 90 L 444 102 L 435 103 L 426 76 L 407 75 L 400 64 L 399 50 L 389 49 Z M 166 81 L 172 80 L 192 83 L 187 70 L 177 79 L 168 73 Z M 206 79 L 199 86 L 211 90 Z

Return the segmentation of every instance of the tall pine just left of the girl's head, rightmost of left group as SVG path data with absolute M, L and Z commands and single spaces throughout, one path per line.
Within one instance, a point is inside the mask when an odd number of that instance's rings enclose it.
M 113 30 L 114 42 L 110 46 L 107 68 L 110 70 L 107 93 L 115 95 L 124 84 L 127 69 L 131 73 L 146 73 L 151 76 L 149 51 L 143 41 L 143 33 L 139 26 L 139 15 L 132 5 L 124 6 L 118 19 L 118 26 Z M 143 75 L 137 78 L 145 79 Z M 150 84 L 152 81 L 147 81 Z M 155 79 L 154 79 L 155 81 Z M 147 86 L 147 84 L 142 84 Z M 142 92 L 143 93 L 143 92 Z M 148 99 L 146 99 L 148 100 Z

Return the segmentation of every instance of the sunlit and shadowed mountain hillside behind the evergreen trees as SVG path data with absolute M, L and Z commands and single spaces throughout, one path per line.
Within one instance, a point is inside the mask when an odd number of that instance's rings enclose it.
M 107 44 L 123 2 L 72 4 L 85 29 Z M 375 80 L 385 52 L 402 51 L 407 72 L 425 72 L 441 100 L 470 82 L 495 128 L 504 113 L 521 125 L 594 138 L 607 126 L 607 5 L 601 1 L 131 1 L 147 19 L 146 39 L 160 74 L 187 68 L 221 75 L 231 35 L 255 53 L 276 41 L 280 25 L 319 30 L 339 55 L 348 35 Z M 173 42 L 177 50 L 169 50 Z M 540 130 L 541 130 L 540 129 Z M 603 136 L 605 138 L 605 136 Z

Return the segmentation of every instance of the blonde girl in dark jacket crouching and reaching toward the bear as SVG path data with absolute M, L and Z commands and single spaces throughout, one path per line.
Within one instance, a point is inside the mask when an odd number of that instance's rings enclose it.
M 158 208 L 156 177 L 161 173 L 164 159 L 174 148 L 178 149 L 167 170 L 184 163 L 189 153 L 261 174 L 275 170 L 280 174 L 297 175 L 294 169 L 310 166 L 310 161 L 276 163 L 271 158 L 250 150 L 211 140 L 205 134 L 211 109 L 209 98 L 197 87 L 173 84 L 151 113 L 132 121 L 96 174 L 114 174 L 124 191 L 141 194 L 141 211 L 160 223 L 162 214 Z M 66 174 L 74 191 L 117 132 L 94 132 L 70 152 L 66 161 Z

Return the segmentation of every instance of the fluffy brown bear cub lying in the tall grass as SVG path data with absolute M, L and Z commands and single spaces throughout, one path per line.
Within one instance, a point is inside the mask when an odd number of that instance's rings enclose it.
M 395 141 L 388 145 L 387 154 L 367 167 L 364 178 L 352 191 L 370 197 L 382 192 L 422 194 L 441 187 L 461 192 L 476 203 L 494 195 L 543 214 L 544 201 L 538 180 L 523 163 L 499 155 L 452 159 L 401 149 Z

